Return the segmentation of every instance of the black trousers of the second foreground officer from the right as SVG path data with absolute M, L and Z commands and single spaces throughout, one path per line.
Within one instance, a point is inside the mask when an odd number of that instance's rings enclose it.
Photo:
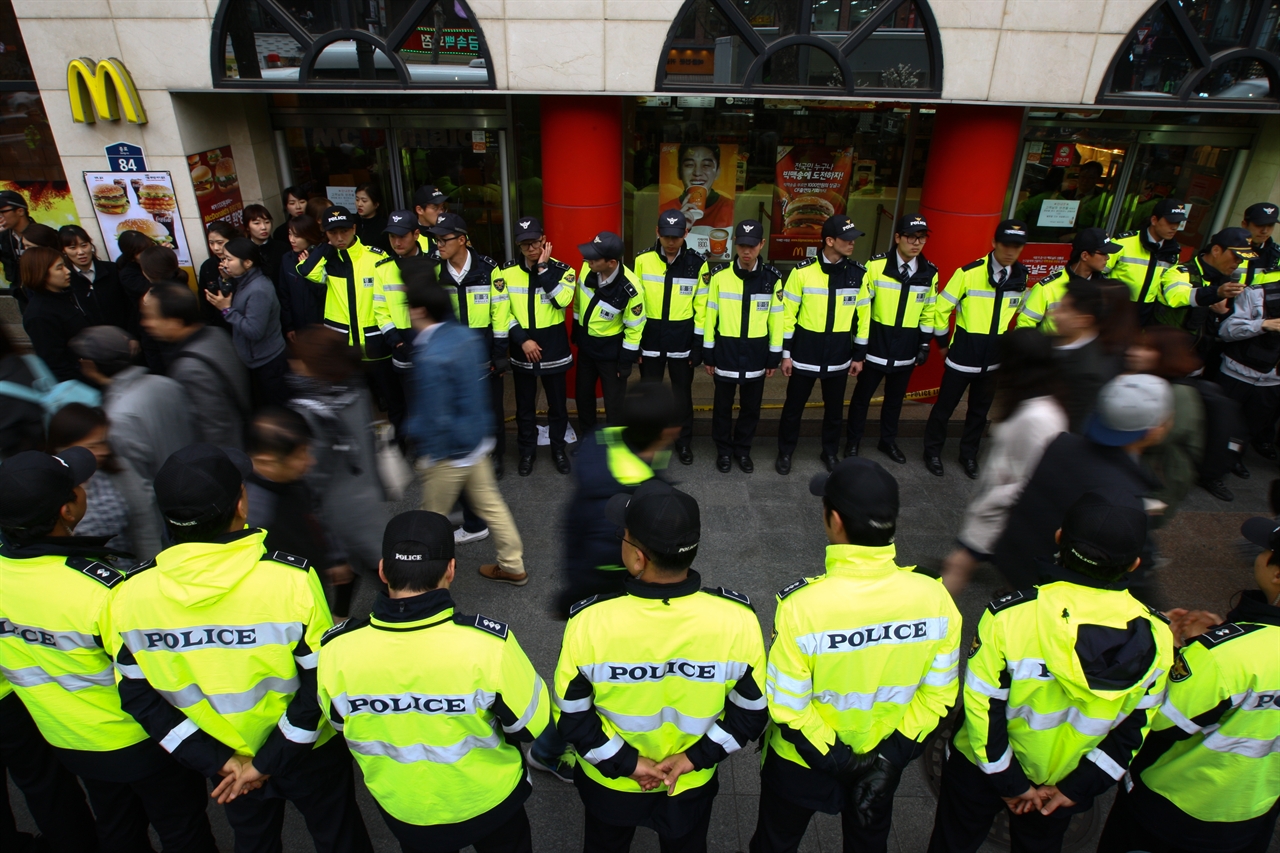
M 1071 816 L 1088 811 L 1093 803 L 1059 808 L 1046 817 L 1037 812 L 1009 815 L 1011 853 L 1059 853 Z M 933 818 L 928 853 L 974 853 L 987 840 L 996 815 L 1005 800 L 973 762 L 955 744 L 942 768 L 942 794 Z

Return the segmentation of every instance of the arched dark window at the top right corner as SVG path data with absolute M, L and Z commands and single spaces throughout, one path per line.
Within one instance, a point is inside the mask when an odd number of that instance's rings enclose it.
M 1277 24 L 1272 0 L 1160 0 L 1111 60 L 1098 102 L 1277 109 Z

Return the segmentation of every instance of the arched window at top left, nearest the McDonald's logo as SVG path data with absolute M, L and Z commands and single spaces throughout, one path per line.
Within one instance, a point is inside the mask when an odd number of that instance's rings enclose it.
M 219 88 L 494 88 L 465 0 L 221 0 Z

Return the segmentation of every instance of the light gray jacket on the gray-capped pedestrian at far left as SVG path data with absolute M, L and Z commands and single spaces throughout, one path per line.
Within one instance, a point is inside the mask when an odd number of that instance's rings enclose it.
M 195 415 L 186 392 L 168 377 L 146 368 L 125 368 L 102 392 L 111 421 L 111 447 L 150 487 L 174 451 L 196 441 Z

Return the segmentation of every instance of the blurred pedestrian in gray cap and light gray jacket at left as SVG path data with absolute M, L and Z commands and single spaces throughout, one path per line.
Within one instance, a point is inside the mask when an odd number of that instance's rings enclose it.
M 102 388 L 111 446 L 150 484 L 174 451 L 195 441 L 200 412 L 177 382 L 133 364 L 134 346 L 114 325 L 93 325 L 72 339 L 86 378 Z

